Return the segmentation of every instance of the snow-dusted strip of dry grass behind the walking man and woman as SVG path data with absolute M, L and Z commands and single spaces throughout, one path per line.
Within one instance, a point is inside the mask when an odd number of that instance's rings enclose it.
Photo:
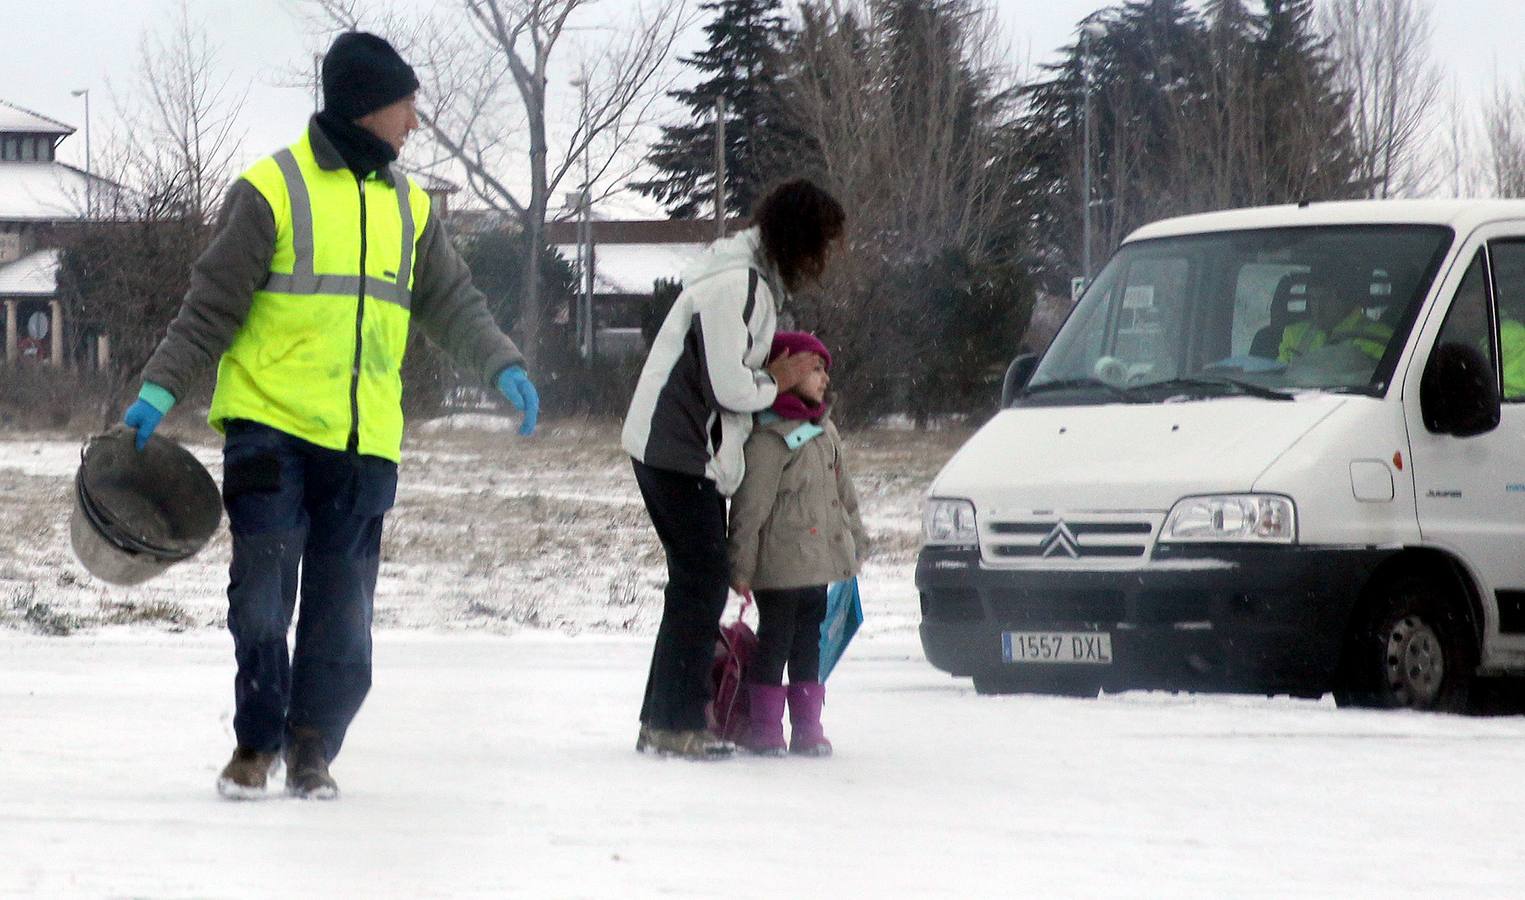
M 412 430 L 381 543 L 377 624 L 497 633 L 654 630 L 662 548 L 619 450 L 618 423 L 547 423 L 525 441 L 496 430 L 503 421 L 458 416 Z M 217 435 L 189 416 L 172 433 L 221 482 Z M 877 549 L 863 574 L 877 628 L 915 628 L 921 496 L 959 438 L 848 438 Z M 78 436 L 0 432 L 0 627 L 221 627 L 226 526 L 198 557 L 133 589 L 95 581 L 73 558 L 69 511 L 79 444 Z

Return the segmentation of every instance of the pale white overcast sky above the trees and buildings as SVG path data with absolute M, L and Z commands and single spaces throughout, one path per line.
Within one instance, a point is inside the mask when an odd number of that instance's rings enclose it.
M 429 0 L 398 0 L 430 5 Z M 445 0 L 441 0 L 444 5 Z M 691 0 L 697 2 L 697 0 Z M 1517 44 L 1525 38 L 1520 0 L 1432 0 L 1435 56 L 1455 76 L 1459 92 L 1481 95 L 1493 72 L 1520 78 Z M 284 73 L 310 66 L 323 41 L 310 34 L 299 0 L 189 0 L 194 20 L 220 46 L 233 85 L 249 85 L 242 127 L 246 157 L 288 143 L 313 102 L 307 90 L 279 87 Z M 633 0 L 602 0 L 592 20 L 633 8 Z M 996 0 L 1014 63 L 1043 63 L 1069 41 L 1075 21 L 1101 0 Z M 0 98 L 81 127 L 84 105 L 70 90 L 92 88 L 93 143 L 108 140 L 111 92 L 131 90 L 139 37 L 168 27 L 174 0 L 0 0 Z M 702 44 L 695 26 L 689 47 Z M 554 78 L 555 81 L 555 78 Z M 427 85 L 425 85 L 427 87 Z M 61 148 L 63 159 L 84 165 L 82 134 Z M 637 203 L 639 206 L 639 203 Z

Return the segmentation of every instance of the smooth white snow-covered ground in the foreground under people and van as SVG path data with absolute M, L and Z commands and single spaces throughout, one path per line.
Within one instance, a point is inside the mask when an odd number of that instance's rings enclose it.
M 1517 897 L 1525 722 L 979 697 L 913 641 L 831 760 L 631 749 L 648 641 L 387 630 L 332 804 L 226 802 L 229 641 L 0 633 L 0 894 Z

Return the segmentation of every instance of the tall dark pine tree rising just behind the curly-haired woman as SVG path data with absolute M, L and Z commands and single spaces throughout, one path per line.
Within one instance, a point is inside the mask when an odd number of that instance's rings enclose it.
M 657 177 L 631 185 L 654 197 L 673 218 L 714 211 L 715 98 L 726 101 L 726 209 L 746 215 L 776 172 L 779 148 L 788 142 L 778 104 L 779 49 L 785 40 L 781 0 L 711 0 L 705 26 L 709 47 L 683 64 L 709 73 L 691 90 L 674 90 L 689 108 L 689 124 L 662 128 L 648 162 Z

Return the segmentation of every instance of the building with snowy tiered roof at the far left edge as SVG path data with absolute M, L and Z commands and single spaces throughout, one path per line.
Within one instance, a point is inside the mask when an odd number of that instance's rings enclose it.
M 0 101 L 0 304 L 5 360 L 64 362 L 59 236 L 116 186 L 58 160 L 72 125 Z M 105 343 L 95 348 L 99 365 Z

